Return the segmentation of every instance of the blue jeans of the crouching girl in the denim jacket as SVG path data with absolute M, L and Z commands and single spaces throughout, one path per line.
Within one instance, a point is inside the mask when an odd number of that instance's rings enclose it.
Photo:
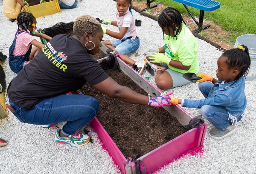
M 198 88 L 204 95 L 204 97 L 207 98 L 212 86 L 213 83 L 205 81 L 199 83 Z M 212 123 L 213 126 L 218 128 L 219 130 L 226 129 L 231 122 L 231 119 L 229 119 L 228 111 L 221 106 L 204 105 L 201 107 L 201 114 L 205 119 L 207 119 L 210 123 Z M 240 120 L 241 116 L 238 117 L 237 121 Z

